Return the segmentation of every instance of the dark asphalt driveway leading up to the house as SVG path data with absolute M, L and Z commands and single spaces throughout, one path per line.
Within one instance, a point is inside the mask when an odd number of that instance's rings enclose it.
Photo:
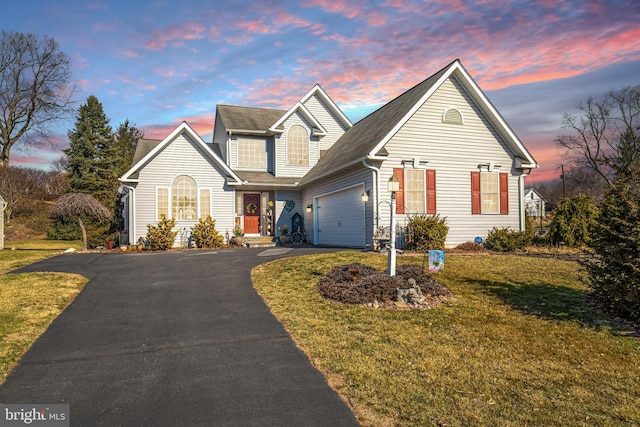
M 313 248 L 66 254 L 26 271 L 90 281 L 0 386 L 71 425 L 355 426 L 251 285 Z

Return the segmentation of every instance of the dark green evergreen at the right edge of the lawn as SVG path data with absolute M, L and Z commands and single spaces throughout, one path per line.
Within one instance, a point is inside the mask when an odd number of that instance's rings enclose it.
M 607 192 L 584 262 L 591 294 L 608 311 L 640 322 L 640 195 L 617 181 Z

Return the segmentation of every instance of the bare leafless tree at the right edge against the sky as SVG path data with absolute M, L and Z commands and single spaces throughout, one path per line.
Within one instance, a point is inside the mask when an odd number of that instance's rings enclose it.
M 640 85 L 589 97 L 578 113 L 564 113 L 570 133 L 556 142 L 579 167 L 595 171 L 608 186 L 640 164 Z M 637 171 L 636 171 L 637 172 Z

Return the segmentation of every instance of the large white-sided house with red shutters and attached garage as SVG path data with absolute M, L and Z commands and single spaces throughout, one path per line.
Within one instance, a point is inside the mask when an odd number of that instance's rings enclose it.
M 318 85 L 289 110 L 219 105 L 213 144 L 183 123 L 142 140 L 121 182 L 131 241 L 162 215 L 186 235 L 211 214 L 222 233 L 300 225 L 315 245 L 365 247 L 389 225 L 395 175 L 398 224 L 439 214 L 454 246 L 524 229 L 524 177 L 537 166 L 456 60 L 355 125 Z

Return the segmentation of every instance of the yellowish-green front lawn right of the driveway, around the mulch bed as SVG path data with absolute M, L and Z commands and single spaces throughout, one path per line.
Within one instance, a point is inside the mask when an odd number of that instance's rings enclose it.
M 288 258 L 252 278 L 364 425 L 640 424 L 640 340 L 589 305 L 577 263 L 447 255 L 436 278 L 455 301 L 381 311 L 319 297 L 317 281 L 352 262 L 387 259 Z

